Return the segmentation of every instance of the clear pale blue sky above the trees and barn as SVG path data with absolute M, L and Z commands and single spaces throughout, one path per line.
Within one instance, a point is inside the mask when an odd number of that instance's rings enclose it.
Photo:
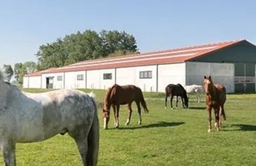
M 0 66 L 36 61 L 41 44 L 92 29 L 133 34 L 141 52 L 246 39 L 253 0 L 0 0 Z

